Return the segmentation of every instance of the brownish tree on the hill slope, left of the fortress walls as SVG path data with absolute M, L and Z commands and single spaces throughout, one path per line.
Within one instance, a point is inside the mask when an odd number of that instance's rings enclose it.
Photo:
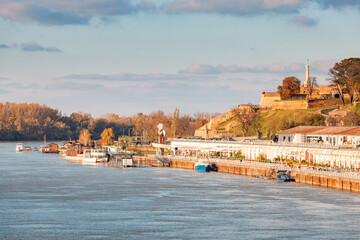
M 247 137 L 249 128 L 253 124 L 253 120 L 258 115 L 258 108 L 252 104 L 239 105 L 231 109 L 236 121 L 241 124 L 243 136 Z

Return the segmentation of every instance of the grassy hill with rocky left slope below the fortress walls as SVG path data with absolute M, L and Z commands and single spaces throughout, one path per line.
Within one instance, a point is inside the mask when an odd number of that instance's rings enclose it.
M 239 105 L 246 107 L 249 105 Z M 280 130 L 299 125 L 307 126 L 349 126 L 360 123 L 360 104 L 356 106 L 326 106 L 312 109 L 264 110 L 258 109 L 257 115 L 249 124 L 249 131 L 243 132 L 242 124 L 234 110 L 212 118 L 207 124 L 195 131 L 195 136 L 203 138 L 249 137 L 270 139 Z

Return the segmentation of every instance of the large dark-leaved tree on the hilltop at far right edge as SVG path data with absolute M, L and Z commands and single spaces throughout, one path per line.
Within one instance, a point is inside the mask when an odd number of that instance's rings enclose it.
M 360 58 L 347 58 L 335 63 L 329 74 L 329 81 L 336 86 L 343 104 L 346 93 L 353 103 L 355 94 L 360 94 Z

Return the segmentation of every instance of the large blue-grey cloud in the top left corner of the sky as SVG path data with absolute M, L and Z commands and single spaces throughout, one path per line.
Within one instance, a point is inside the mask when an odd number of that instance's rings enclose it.
M 93 17 L 127 15 L 154 9 L 154 4 L 130 0 L 3 0 L 0 16 L 42 25 L 88 24 Z

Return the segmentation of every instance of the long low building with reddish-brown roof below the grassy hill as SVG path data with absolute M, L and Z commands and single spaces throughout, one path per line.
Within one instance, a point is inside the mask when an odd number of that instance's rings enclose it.
M 281 143 L 323 143 L 327 145 L 360 144 L 360 126 L 298 126 L 279 132 Z

